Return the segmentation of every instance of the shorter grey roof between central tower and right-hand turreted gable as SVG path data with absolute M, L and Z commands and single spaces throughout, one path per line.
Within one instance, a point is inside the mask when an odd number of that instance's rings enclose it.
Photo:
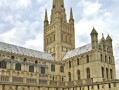
M 72 51 L 67 52 L 62 60 L 66 60 L 68 58 L 72 58 L 74 56 L 83 54 L 83 53 L 91 51 L 91 50 L 92 50 L 92 46 L 91 46 L 91 43 L 90 43 L 90 44 L 87 44 L 85 46 L 82 46 L 82 47 L 79 47 L 77 49 L 74 49 Z

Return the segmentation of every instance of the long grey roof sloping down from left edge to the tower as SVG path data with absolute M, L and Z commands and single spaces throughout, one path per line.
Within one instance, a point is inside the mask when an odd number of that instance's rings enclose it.
M 0 51 L 30 56 L 34 58 L 54 60 L 54 58 L 50 54 L 32 50 L 32 49 L 27 49 L 27 48 L 20 47 L 20 46 L 3 43 L 3 42 L 0 42 Z

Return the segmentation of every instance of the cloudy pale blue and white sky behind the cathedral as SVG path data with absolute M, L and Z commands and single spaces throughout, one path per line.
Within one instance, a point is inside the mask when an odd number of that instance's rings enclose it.
M 0 41 L 43 51 L 43 20 L 52 0 L 0 0 Z M 73 8 L 76 47 L 90 42 L 93 27 L 113 39 L 119 78 L 119 0 L 65 0 L 67 20 Z

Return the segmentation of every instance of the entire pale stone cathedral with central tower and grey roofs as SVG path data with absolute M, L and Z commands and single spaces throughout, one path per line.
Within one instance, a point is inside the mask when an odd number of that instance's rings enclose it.
M 75 0 L 74 0 L 75 1 Z M 110 35 L 75 48 L 72 8 L 53 0 L 44 16 L 44 52 L 0 42 L 0 90 L 119 90 Z

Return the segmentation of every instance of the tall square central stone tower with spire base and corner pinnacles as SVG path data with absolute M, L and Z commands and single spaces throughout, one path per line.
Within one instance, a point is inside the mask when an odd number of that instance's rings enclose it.
M 61 61 L 67 51 L 75 48 L 74 32 L 72 8 L 67 21 L 64 0 L 53 0 L 50 22 L 45 11 L 44 51 L 52 54 L 56 61 Z

